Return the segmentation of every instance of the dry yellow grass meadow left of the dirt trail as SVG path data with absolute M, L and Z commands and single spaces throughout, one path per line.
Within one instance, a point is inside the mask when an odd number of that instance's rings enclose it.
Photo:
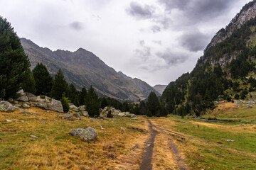
M 148 135 L 143 117 L 95 119 L 93 123 L 84 117 L 85 121 L 63 120 L 56 112 L 40 108 L 24 110 L 38 115 L 18 110 L 0 113 L 0 169 L 139 169 Z M 82 142 L 68 135 L 70 130 L 88 126 L 97 130 L 97 140 Z

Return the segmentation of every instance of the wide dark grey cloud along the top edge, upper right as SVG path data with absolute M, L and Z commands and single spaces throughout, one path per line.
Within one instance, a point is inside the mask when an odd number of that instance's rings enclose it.
M 177 8 L 183 11 L 184 16 L 193 19 L 193 22 L 217 17 L 228 11 L 235 0 L 159 0 L 164 4 L 166 11 Z

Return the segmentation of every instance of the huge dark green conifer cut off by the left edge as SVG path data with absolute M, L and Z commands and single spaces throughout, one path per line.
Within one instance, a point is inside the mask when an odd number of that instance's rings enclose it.
M 20 39 L 6 19 L 0 16 L 0 98 L 16 97 L 28 77 L 30 62 Z

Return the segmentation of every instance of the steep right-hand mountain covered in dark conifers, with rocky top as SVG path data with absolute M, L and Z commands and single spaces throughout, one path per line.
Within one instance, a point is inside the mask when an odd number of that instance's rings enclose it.
M 214 101 L 253 98 L 256 90 L 256 0 L 216 33 L 191 73 L 164 90 L 169 113 L 201 115 Z

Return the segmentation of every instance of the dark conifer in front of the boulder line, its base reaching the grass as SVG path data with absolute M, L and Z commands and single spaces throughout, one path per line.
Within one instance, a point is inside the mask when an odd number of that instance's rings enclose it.
M 90 89 L 88 90 L 86 100 L 85 100 L 85 106 L 90 117 L 95 117 L 100 115 L 100 112 L 99 112 L 100 100 L 92 86 L 90 86 Z

